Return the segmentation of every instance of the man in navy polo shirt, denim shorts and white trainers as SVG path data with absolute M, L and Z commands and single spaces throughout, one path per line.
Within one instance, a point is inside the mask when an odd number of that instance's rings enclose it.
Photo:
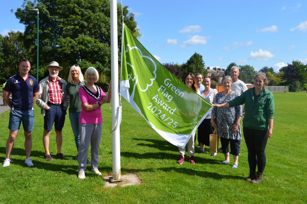
M 21 60 L 18 65 L 19 73 L 10 77 L 4 87 L 2 98 L 11 107 L 9 129 L 9 138 L 6 141 L 6 159 L 3 167 L 10 165 L 11 152 L 16 139 L 21 122 L 25 134 L 25 164 L 33 166 L 30 158 L 32 149 L 32 130 L 34 129 L 34 110 L 33 103 L 36 102 L 39 93 L 37 80 L 29 75 L 31 69 L 29 60 Z M 9 95 L 12 93 L 12 102 Z

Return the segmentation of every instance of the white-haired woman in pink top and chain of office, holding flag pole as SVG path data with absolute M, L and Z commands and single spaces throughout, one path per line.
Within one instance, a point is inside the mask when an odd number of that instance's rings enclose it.
M 111 82 L 109 84 L 108 95 L 103 90 L 95 86 L 98 81 L 98 71 L 94 67 L 89 67 L 84 73 L 86 85 L 79 88 L 79 96 L 82 104 L 79 127 L 80 145 L 78 156 L 78 178 L 85 179 L 86 161 L 88 148 L 91 143 L 91 171 L 101 175 L 98 170 L 99 143 L 102 131 L 102 114 L 100 106 L 111 102 Z

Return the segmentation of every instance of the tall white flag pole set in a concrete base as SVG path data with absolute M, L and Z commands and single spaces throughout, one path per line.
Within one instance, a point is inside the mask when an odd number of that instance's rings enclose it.
M 117 2 L 110 1 L 111 6 L 111 80 L 112 80 L 112 129 L 115 128 L 119 111 L 119 86 L 118 86 L 118 43 L 117 43 Z M 119 128 L 112 133 L 112 177 L 113 180 L 121 179 L 120 175 L 120 143 Z

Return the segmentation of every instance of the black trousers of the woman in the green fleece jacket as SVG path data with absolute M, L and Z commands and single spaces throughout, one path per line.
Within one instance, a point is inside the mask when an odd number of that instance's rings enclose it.
M 266 167 L 266 138 L 267 130 L 255 130 L 243 127 L 243 134 L 248 151 L 248 164 L 250 171 L 256 171 L 258 166 L 258 172 L 263 173 Z

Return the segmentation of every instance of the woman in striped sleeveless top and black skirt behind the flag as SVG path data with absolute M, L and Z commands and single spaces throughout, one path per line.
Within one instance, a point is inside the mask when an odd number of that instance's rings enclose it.
M 212 89 L 211 85 L 211 78 L 209 76 L 204 77 L 204 87 L 205 90 L 200 91 L 200 95 L 206 99 L 208 102 L 212 104 L 215 95 L 217 94 L 216 89 Z M 198 144 L 200 144 L 200 151 L 198 153 L 204 153 L 204 147 L 210 146 L 209 137 L 210 134 L 213 134 L 213 129 L 211 125 L 211 113 L 205 117 L 204 121 L 199 125 L 197 129 L 197 140 Z M 217 153 L 213 153 L 211 156 L 216 156 Z

